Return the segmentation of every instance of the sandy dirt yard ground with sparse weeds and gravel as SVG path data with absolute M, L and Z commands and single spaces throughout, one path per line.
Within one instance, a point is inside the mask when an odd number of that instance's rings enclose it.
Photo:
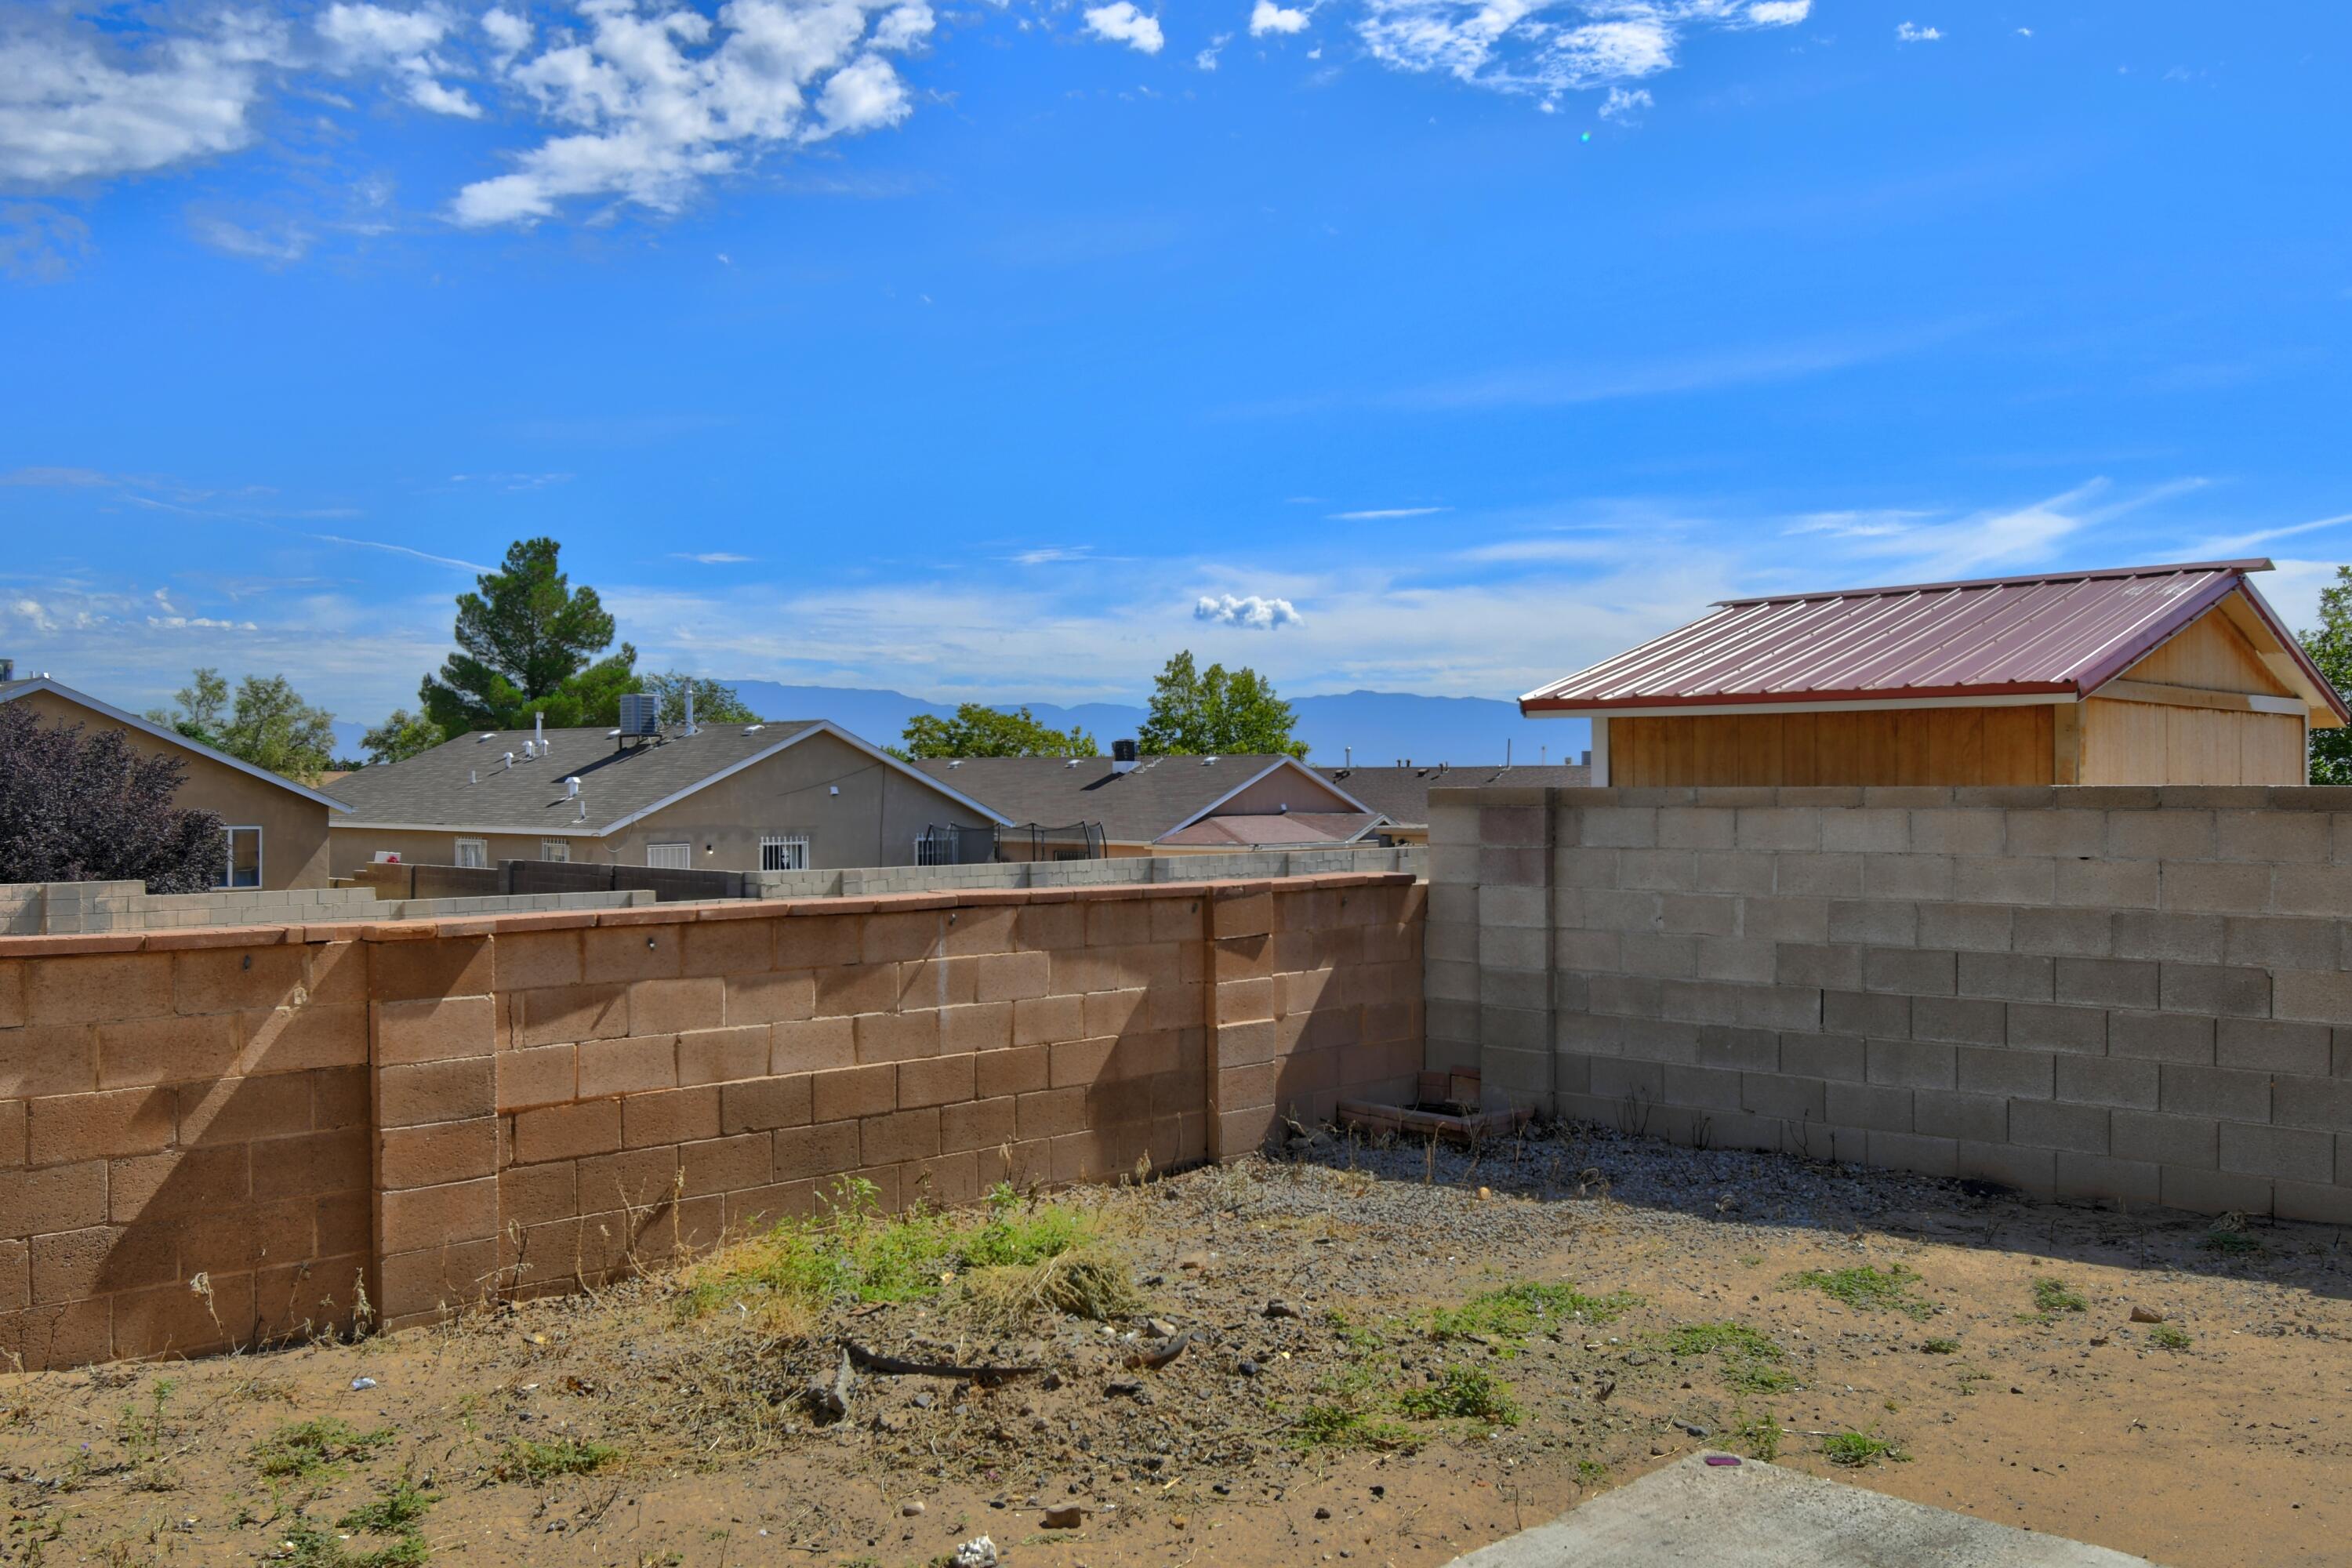
M 353 1345 L 5 1375 L 0 1563 L 903 1568 L 985 1533 L 1037 1568 L 1411 1566 L 1691 1448 L 2173 1568 L 2347 1561 L 2336 1229 L 1576 1126 L 1475 1157 L 1322 1140 L 1058 1201 L 1143 1314 L 997 1335 L 950 1281 L 776 1335 L 682 1314 L 656 1272 Z M 1508 1286 L 1583 1295 L 1437 1316 Z M 1192 1338 L 1134 1368 L 1167 1331 Z M 842 1340 L 1044 1371 L 861 1373 L 823 1425 L 804 1389 Z M 1406 1399 L 1496 1385 L 1517 1422 Z M 266 1474 L 273 1434 L 320 1420 L 348 1446 Z M 1068 1505 L 1082 1523 L 1049 1528 Z

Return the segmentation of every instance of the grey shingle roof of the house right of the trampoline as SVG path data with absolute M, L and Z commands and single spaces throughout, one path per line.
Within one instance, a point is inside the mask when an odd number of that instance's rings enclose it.
M 924 757 L 915 766 L 934 780 L 955 780 L 1016 823 L 1101 823 L 1112 844 L 1157 844 L 1282 771 L 1315 790 L 1301 809 L 1329 811 L 1338 797 L 1341 809 L 1371 811 L 1296 757 L 1145 757 L 1127 773 L 1110 757 Z

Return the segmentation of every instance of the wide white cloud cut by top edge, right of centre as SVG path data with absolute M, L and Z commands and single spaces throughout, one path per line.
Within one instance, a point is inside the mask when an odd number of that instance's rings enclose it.
M 1670 71 L 1691 28 L 1776 28 L 1809 9 L 1811 0 L 1367 0 L 1357 33 L 1397 71 L 1552 103 Z

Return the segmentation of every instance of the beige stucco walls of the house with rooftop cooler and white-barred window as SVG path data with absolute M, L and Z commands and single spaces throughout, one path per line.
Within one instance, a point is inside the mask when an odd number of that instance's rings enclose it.
M 840 790 L 835 795 L 833 790 Z M 762 835 L 809 835 L 809 867 L 913 865 L 915 835 L 931 825 L 983 827 L 988 818 L 962 806 L 920 778 L 875 762 L 835 736 L 809 736 L 757 766 L 696 790 L 687 799 L 630 823 L 607 837 L 572 837 L 574 860 L 644 865 L 647 844 L 691 844 L 694 867 L 717 872 L 760 870 Z M 456 842 L 489 839 L 489 863 L 536 860 L 539 832 L 386 832 L 334 830 L 334 875 L 348 877 L 397 851 L 419 865 L 456 863 Z

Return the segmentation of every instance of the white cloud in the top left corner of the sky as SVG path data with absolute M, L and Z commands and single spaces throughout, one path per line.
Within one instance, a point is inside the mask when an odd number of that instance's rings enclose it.
M 141 47 L 94 28 L 0 35 L 0 179 L 61 186 L 233 153 L 285 56 L 275 21 L 240 14 Z

